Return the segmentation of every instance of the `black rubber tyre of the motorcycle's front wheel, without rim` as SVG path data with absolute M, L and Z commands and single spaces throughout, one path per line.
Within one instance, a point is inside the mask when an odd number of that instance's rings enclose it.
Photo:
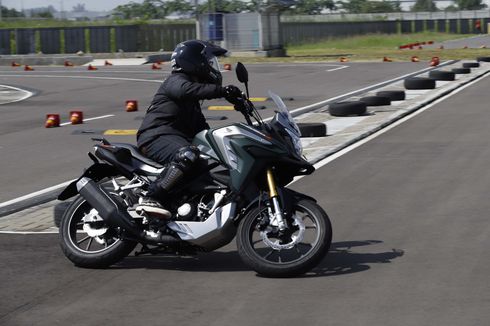
M 257 217 L 260 215 L 261 211 L 264 211 L 267 208 L 261 207 L 261 210 L 259 210 L 259 208 L 256 207 L 255 209 L 249 211 L 243 220 L 240 221 L 237 232 L 238 253 L 243 262 L 260 275 L 266 277 L 293 277 L 301 275 L 318 265 L 318 263 L 320 263 L 323 257 L 325 257 L 325 255 L 328 253 L 328 249 L 330 248 L 330 244 L 332 242 L 332 225 L 327 213 L 325 213 L 325 211 L 316 202 L 310 199 L 295 200 L 292 205 L 295 212 L 304 211 L 307 214 L 315 216 L 318 222 L 316 227 L 318 228 L 319 232 L 312 249 L 305 253 L 304 256 L 301 256 L 297 260 L 293 260 L 291 262 L 271 262 L 267 259 L 269 254 L 266 256 L 261 256 L 254 250 L 254 244 L 252 243 L 254 241 L 252 236 L 254 231 L 256 231 L 255 225 L 257 225 Z M 298 247 L 295 246 L 295 248 L 299 250 Z M 279 252 L 281 254 L 291 254 L 291 252 L 286 252 L 286 250 L 294 249 L 274 250 L 267 247 L 265 250 L 270 250 L 272 255 L 274 255 L 275 253 Z

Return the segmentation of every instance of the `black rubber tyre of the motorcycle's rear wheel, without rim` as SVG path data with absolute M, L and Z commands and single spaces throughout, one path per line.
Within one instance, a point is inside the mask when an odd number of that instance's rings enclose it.
M 59 241 L 61 249 L 65 256 L 71 260 L 76 266 L 84 268 L 107 268 L 115 264 L 133 251 L 137 243 L 129 240 L 118 239 L 110 244 L 107 249 L 102 249 L 98 252 L 87 253 L 74 245 L 72 235 L 76 228 L 72 225 L 72 221 L 76 222 L 79 214 L 86 213 L 91 209 L 88 202 L 81 196 L 78 196 L 63 214 L 59 229 Z M 75 235 L 76 236 L 76 235 Z M 90 241 L 90 240 L 89 240 Z

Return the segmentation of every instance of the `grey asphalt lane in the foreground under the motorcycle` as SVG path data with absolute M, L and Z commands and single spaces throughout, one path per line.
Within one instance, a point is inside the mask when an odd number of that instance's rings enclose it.
M 0 324 L 485 325 L 489 85 L 487 75 L 293 185 L 334 228 L 305 277 L 257 277 L 234 245 L 84 270 L 56 235 L 1 235 Z

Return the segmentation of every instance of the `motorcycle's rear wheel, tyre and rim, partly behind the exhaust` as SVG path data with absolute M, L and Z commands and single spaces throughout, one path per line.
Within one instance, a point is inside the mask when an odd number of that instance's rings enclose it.
M 68 206 L 61 218 L 60 246 L 76 266 L 106 268 L 129 255 L 137 243 L 121 239 L 100 217 L 95 217 L 96 222 L 84 222 L 84 216 L 93 216 L 94 211 L 81 196 Z

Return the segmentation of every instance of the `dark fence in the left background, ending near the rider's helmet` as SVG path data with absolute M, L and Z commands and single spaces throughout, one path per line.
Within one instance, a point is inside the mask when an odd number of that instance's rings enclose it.
M 151 52 L 193 38 L 194 24 L 3 29 L 0 54 Z

